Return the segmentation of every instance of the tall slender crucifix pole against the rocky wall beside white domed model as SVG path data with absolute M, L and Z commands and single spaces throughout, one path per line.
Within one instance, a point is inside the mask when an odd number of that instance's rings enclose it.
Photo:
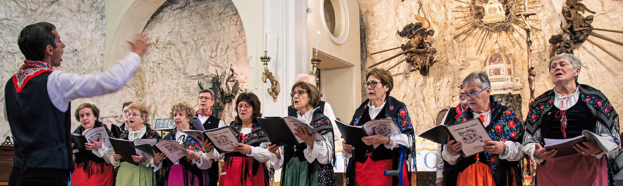
M 535 100 L 535 65 L 532 64 L 532 38 L 530 35 L 530 15 L 536 15 L 536 12 L 528 12 L 528 0 L 524 1 L 525 11 L 518 13 L 521 16 L 523 23 L 526 24 L 526 51 L 528 51 L 528 86 L 530 86 L 530 102 Z

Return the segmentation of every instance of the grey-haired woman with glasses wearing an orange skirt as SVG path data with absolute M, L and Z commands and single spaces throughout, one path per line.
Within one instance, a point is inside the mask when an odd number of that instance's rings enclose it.
M 491 83 L 483 71 L 470 73 L 463 80 L 467 110 L 454 123 L 479 118 L 485 130 L 493 139 L 485 141 L 485 152 L 462 157 L 461 142 L 448 139 L 442 157 L 448 162 L 445 175 L 446 185 L 522 185 L 523 179 L 519 161 L 523 159 L 521 139 L 523 126 L 515 112 L 495 101 L 491 94 Z

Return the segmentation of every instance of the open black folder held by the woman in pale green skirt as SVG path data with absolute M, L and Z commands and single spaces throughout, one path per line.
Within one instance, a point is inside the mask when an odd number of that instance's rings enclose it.
M 115 149 L 116 154 L 121 154 L 121 160 L 129 162 L 130 164 L 134 164 L 135 166 L 138 166 L 138 162 L 135 162 L 134 159 L 132 159 L 132 155 L 136 156 L 136 153 L 139 153 L 143 156 L 153 156 L 153 153 L 151 153 L 150 155 L 149 153 L 141 151 L 140 149 L 136 149 L 135 146 L 141 144 L 153 145 L 157 142 L 158 139 L 134 139 L 134 141 L 130 141 L 126 139 L 110 138 L 110 144 L 112 144 L 112 147 L 113 149 Z

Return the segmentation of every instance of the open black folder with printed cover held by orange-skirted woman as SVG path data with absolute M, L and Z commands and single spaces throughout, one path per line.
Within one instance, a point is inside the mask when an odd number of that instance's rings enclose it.
M 462 143 L 460 153 L 463 157 L 482 153 L 485 151 L 483 146 L 491 145 L 485 143 L 485 141 L 490 141 L 491 137 L 485 130 L 485 125 L 482 124 L 480 118 L 473 118 L 454 125 L 437 125 L 423 131 L 419 136 L 439 144 L 448 144 L 448 136 L 450 136 L 451 139 Z

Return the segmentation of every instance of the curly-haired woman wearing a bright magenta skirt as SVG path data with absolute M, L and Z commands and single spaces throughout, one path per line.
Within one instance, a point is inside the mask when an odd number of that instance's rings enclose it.
M 197 130 L 193 126 L 193 108 L 186 102 L 181 102 L 171 107 L 169 117 L 175 123 L 173 131 L 164 136 L 164 140 L 177 141 L 184 147 L 186 157 L 179 159 L 174 164 L 163 161 L 166 158 L 164 153 L 156 153 L 151 161 L 154 171 L 160 175 L 157 185 L 193 185 L 207 186 L 209 177 L 204 174 L 205 169 L 212 166 L 212 159 L 202 153 L 203 146 L 198 139 L 184 133 L 184 130 Z

